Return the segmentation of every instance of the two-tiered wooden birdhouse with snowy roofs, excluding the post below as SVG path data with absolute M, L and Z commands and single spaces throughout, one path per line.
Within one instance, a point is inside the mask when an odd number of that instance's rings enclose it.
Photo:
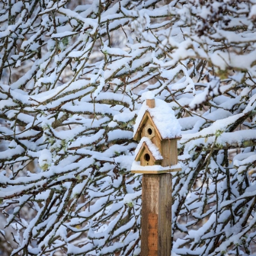
M 180 124 L 168 103 L 146 99 L 138 113 L 133 139 L 140 141 L 135 151 L 133 173 L 179 171 L 177 140 Z

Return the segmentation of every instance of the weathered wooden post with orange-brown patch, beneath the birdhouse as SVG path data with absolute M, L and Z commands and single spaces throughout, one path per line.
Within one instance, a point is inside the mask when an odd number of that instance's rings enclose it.
M 141 256 L 171 255 L 171 174 L 143 174 Z

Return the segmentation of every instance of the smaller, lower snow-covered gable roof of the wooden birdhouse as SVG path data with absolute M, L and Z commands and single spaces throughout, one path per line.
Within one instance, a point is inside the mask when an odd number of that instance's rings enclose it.
M 153 144 L 149 138 L 143 137 L 138 144 L 137 149 L 135 150 L 135 161 L 138 161 L 145 148 L 151 152 L 152 157 L 154 157 L 155 160 L 163 160 L 163 157 L 157 146 L 155 146 L 155 144 Z

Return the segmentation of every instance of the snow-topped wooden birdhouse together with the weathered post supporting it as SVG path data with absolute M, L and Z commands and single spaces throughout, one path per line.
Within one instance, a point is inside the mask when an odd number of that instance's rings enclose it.
M 180 125 L 166 102 L 146 99 L 138 113 L 133 135 L 140 143 L 132 172 L 143 173 L 141 256 L 170 256 L 170 172 L 181 170 L 177 158 Z

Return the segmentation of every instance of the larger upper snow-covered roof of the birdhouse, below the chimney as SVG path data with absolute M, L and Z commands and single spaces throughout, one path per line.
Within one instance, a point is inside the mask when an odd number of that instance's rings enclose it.
M 174 115 L 174 111 L 169 104 L 162 99 L 155 99 L 155 107 L 150 108 L 143 102 L 138 117 L 136 119 L 133 138 L 137 140 L 141 129 L 143 129 L 144 121 L 151 118 L 162 140 L 168 138 L 177 138 L 181 135 L 181 127 Z

